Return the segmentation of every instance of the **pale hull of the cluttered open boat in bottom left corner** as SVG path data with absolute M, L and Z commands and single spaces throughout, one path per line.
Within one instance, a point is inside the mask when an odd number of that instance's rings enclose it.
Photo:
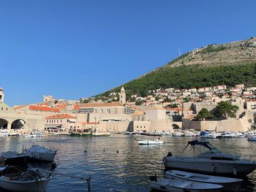
M 48 182 L 51 177 L 48 179 L 39 179 L 38 181 L 13 181 L 9 180 L 8 177 L 0 177 L 0 187 L 8 191 L 17 191 L 17 192 L 45 192 Z

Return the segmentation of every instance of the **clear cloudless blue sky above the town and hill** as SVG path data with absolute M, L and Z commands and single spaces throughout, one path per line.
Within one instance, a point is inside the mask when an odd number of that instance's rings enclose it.
M 1 0 L 6 103 L 108 91 L 211 43 L 254 37 L 256 1 Z

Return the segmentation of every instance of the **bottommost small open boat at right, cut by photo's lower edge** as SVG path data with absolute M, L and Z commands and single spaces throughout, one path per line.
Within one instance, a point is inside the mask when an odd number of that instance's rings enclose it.
M 222 185 L 199 183 L 183 180 L 157 179 L 151 181 L 151 188 L 158 191 L 172 191 L 172 192 L 217 192 L 223 187 Z

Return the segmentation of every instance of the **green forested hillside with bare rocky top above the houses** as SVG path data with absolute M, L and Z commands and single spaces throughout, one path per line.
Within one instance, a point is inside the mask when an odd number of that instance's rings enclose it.
M 125 83 L 132 94 L 146 96 L 157 88 L 200 88 L 212 85 L 256 85 L 256 38 L 224 45 L 208 45 L 184 53 L 165 66 Z M 98 96 L 108 96 L 121 88 L 113 88 Z

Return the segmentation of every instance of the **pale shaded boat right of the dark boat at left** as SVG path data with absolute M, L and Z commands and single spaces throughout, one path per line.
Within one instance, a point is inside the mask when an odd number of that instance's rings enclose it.
M 48 149 L 39 145 L 32 145 L 29 149 L 23 148 L 22 153 L 40 161 L 53 161 L 57 150 Z

